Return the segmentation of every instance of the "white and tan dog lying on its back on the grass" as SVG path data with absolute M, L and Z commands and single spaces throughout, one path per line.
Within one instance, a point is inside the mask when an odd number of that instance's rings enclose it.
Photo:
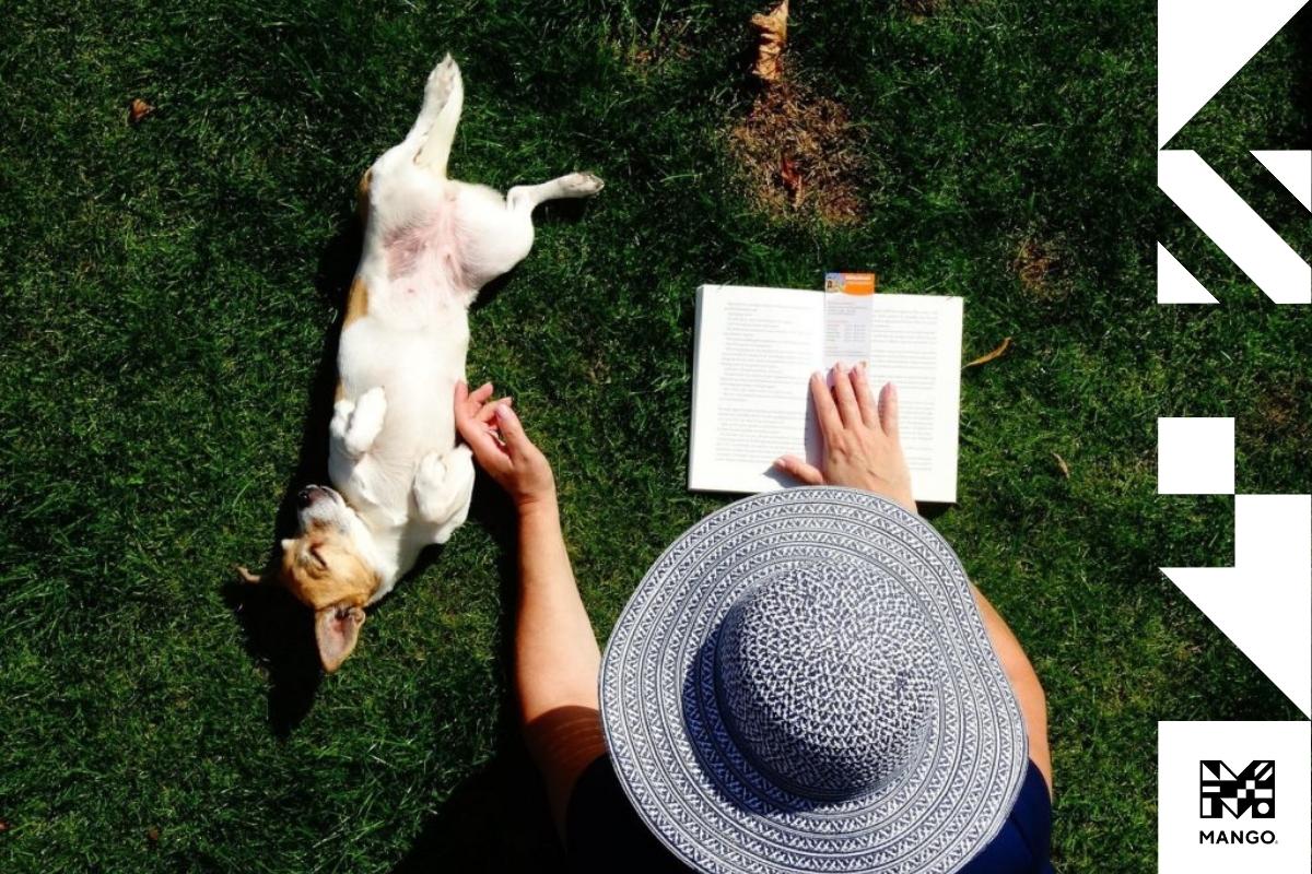
M 529 254 L 534 207 L 602 186 L 572 173 L 502 198 L 446 178 L 463 97 L 461 71 L 447 55 L 428 77 L 409 134 L 359 181 L 365 236 L 328 434 L 335 487 L 298 493 L 300 532 L 282 541 L 277 570 L 315 612 L 327 671 L 354 650 L 365 607 L 468 514 L 474 461 L 457 444 L 453 397 L 464 379 L 470 304 Z

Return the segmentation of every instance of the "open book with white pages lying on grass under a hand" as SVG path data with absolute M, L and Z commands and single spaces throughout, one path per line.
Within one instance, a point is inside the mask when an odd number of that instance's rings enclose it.
M 897 387 L 916 501 L 956 501 L 962 299 L 744 286 L 697 290 L 687 487 L 765 491 L 792 485 L 781 455 L 819 464 L 808 379 L 838 360 Z

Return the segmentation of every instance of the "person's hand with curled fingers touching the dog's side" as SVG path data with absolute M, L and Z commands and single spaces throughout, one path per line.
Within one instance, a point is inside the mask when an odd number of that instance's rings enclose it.
M 470 392 L 455 384 L 455 427 L 470 444 L 479 466 L 506 490 L 523 511 L 550 506 L 556 499 L 556 481 L 542 451 L 523 432 L 510 398 L 492 397 L 492 383 Z

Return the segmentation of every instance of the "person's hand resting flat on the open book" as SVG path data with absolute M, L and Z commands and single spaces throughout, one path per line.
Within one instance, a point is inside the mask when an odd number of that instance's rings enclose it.
M 833 368 L 833 389 L 823 373 L 811 376 L 811 400 L 824 438 L 820 468 L 786 455 L 775 466 L 807 485 L 865 489 L 891 498 L 916 512 L 911 497 L 911 470 L 897 434 L 897 389 L 892 383 L 875 402 L 866 381 L 866 366 Z

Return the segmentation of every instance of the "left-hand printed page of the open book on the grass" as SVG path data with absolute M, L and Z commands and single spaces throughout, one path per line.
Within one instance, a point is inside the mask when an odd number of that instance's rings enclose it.
M 697 295 L 687 485 L 744 493 L 790 485 L 773 468 L 777 457 L 819 457 L 807 421 L 824 295 L 741 286 L 702 286 Z

